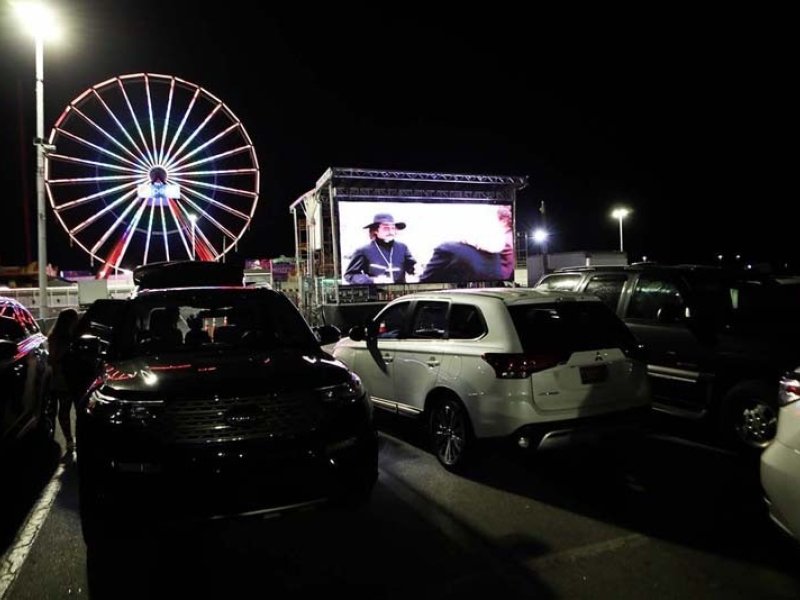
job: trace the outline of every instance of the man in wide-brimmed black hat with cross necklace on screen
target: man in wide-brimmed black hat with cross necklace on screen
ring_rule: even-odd
[[[414,274],[417,261],[402,242],[395,239],[405,223],[395,223],[388,213],[378,213],[369,230],[370,242],[358,248],[344,272],[347,283],[405,283],[406,273]]]

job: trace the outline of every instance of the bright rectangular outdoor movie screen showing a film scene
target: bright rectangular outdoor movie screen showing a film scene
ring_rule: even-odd
[[[459,283],[514,279],[510,203],[345,201],[341,283]]]

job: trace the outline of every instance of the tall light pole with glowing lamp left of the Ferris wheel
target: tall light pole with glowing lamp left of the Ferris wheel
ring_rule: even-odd
[[[42,2],[17,2],[17,16],[33,34],[36,48],[36,227],[38,232],[39,313],[47,314],[47,214],[45,212],[44,159],[53,150],[44,140],[44,40],[55,34],[53,13]]]

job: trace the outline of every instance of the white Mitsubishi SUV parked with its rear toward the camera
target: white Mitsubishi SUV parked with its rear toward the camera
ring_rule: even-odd
[[[650,394],[635,339],[595,296],[524,288],[418,292],[333,349],[372,403],[422,417],[449,470],[474,442],[540,448],[634,428]]]

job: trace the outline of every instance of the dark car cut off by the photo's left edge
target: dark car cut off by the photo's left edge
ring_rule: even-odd
[[[55,410],[47,394],[47,338],[22,304],[0,297],[0,447],[28,434],[51,440]]]

